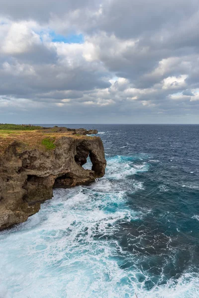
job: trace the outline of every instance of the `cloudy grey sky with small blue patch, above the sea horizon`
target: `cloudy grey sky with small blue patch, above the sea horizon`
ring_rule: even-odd
[[[0,123],[199,124],[199,0],[1,0]]]

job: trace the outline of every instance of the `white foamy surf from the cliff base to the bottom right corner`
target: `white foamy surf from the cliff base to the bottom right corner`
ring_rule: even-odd
[[[109,158],[102,179],[89,187],[56,189],[53,199],[20,228],[1,232],[0,298],[130,298],[134,293],[138,298],[198,298],[198,276],[187,273],[176,283],[147,291],[137,280],[136,263],[130,270],[119,266],[124,252],[113,236],[119,223],[141,219],[151,210],[129,209],[128,186],[108,178],[125,182],[126,175],[147,169],[144,162]],[[135,191],[143,187],[130,181]],[[134,255],[126,256],[133,261]]]

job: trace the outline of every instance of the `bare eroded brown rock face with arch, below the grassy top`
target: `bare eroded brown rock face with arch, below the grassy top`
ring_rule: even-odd
[[[18,151],[14,141],[0,157],[0,229],[25,222],[52,198],[54,187],[73,187],[94,182],[105,172],[100,138],[61,137],[56,148]],[[82,165],[88,155],[92,170]]]

